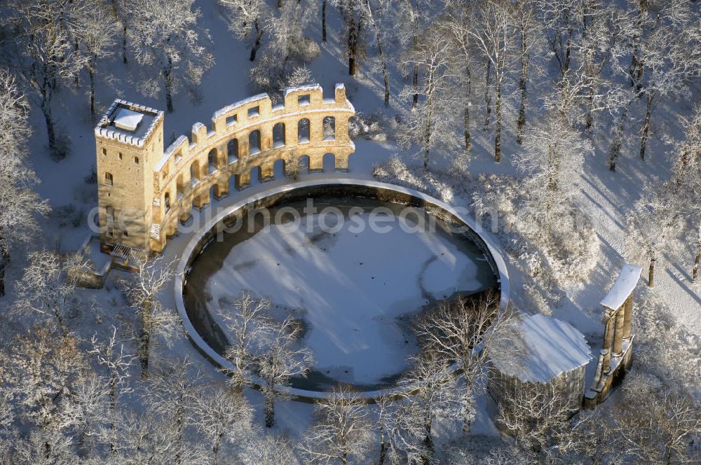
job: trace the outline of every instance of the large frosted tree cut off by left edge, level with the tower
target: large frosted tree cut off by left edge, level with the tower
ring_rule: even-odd
[[[5,272],[12,248],[31,240],[39,225],[36,214],[46,214],[48,203],[32,187],[39,182],[26,164],[25,139],[29,104],[15,78],[0,69],[0,297],[5,295]]]

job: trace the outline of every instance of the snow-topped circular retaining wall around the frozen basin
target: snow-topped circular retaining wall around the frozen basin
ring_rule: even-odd
[[[224,232],[226,225],[230,225],[236,218],[245,216],[256,209],[273,207],[283,202],[292,200],[301,200],[316,195],[336,195],[349,197],[370,197],[384,202],[394,202],[398,204],[407,204],[413,207],[421,207],[429,214],[437,216],[449,223],[467,226],[466,234],[470,240],[475,242],[482,249],[484,256],[489,260],[492,270],[497,279],[497,284],[501,293],[500,307],[502,310],[506,308],[509,302],[509,278],[506,264],[501,252],[494,244],[494,241],[489,235],[482,230],[480,225],[476,225],[475,221],[455,207],[441,202],[440,200],[430,197],[429,195],[419,193],[416,190],[394,186],[388,183],[376,181],[362,181],[358,179],[333,179],[333,180],[318,180],[304,181],[292,183],[287,186],[281,186],[267,190],[257,195],[247,197],[240,202],[227,207],[217,216],[196,231],[191,240],[186,245],[182,258],[177,264],[175,273],[175,304],[177,311],[182,319],[183,326],[189,335],[193,345],[204,354],[207,359],[210,359],[219,368],[224,370],[234,370],[233,364],[226,360],[217,351],[212,349],[205,342],[202,336],[196,331],[187,314],[183,299],[183,287],[187,278],[189,268],[195,258],[200,254],[200,251],[206,247],[217,234]],[[262,384],[262,381],[255,376],[250,377],[250,382],[254,385]],[[287,386],[278,386],[278,391],[289,394],[302,399],[318,399],[325,398],[327,393],[322,391],[311,391],[307,389],[297,389]],[[379,389],[375,391],[362,391],[358,395],[362,398],[372,401],[379,396],[399,394],[397,388]]]

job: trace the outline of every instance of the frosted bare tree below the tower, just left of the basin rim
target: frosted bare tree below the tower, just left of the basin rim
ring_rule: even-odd
[[[151,345],[158,335],[168,338],[179,328],[179,320],[172,310],[161,305],[158,293],[172,279],[172,262],[163,258],[149,258],[139,266],[134,277],[125,279],[124,292],[130,305],[134,307],[139,322],[139,360],[142,378],[149,375],[149,355]]]

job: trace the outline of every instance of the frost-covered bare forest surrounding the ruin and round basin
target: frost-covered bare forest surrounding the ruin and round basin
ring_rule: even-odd
[[[287,85],[315,81],[318,59],[353,80],[349,93],[374,83],[376,113],[353,121],[356,135],[387,132],[421,165],[393,158],[375,176],[443,200],[462,195],[493,219],[524,275],[517,292],[528,307],[518,310],[547,312],[562,298],[557,286],[581,284],[599,263],[575,188],[585,160],[604,147],[597,163],[609,183],[622,182],[631,158],[664,160],[669,179],[648,179],[622,215],[625,258],[645,265],[653,288],[639,305],[632,373],[615,401],[575,416],[545,388],[522,389],[515,410],[496,414],[509,440],[473,433],[490,351],[515,318],[494,293],[441,302],[413,322],[420,349],[392,386],[400,394],[369,405],[339,384],[290,433],[275,420],[288,397],[280,387],[314,363],[299,321],[241,293],[218,316],[231,335],[222,355],[236,368],[220,373],[184,355],[182,324],[161,299],[172,262],[151,257],[107,284],[111,301],[91,300],[69,273],[76,257],[35,240],[51,204],[36,193],[32,132],[47,163],[71,162],[57,99],[75,92],[93,124],[115,67],[177,112],[215,66],[202,3],[0,3],[0,463],[699,463],[701,336],[667,321],[653,294],[679,243],[679,267],[701,281],[699,2],[216,2],[212,16],[229,32],[217,60],[244,48],[250,88],[279,102]],[[693,111],[679,130],[656,133],[680,101]],[[654,138],[669,151],[655,152]],[[515,172],[470,177],[478,150]]]

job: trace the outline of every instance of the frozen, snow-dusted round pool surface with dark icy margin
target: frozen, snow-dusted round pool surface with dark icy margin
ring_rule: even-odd
[[[498,286],[479,237],[421,205],[306,194],[268,202],[267,219],[259,212],[225,221],[228,231],[189,261],[187,316],[217,353],[227,339],[217,314],[234,311],[229,304],[248,290],[272,301],[274,318],[292,313],[304,327],[300,344],[315,364],[292,387],[383,389],[416,352],[410,324],[423,307]]]

